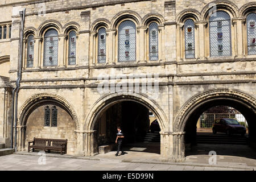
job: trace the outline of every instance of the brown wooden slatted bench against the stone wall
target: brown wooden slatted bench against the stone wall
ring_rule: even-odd
[[[32,145],[31,145],[32,143]],[[43,150],[43,151],[60,151],[62,155],[67,154],[67,139],[46,139],[46,138],[34,138],[32,142],[28,142],[28,152],[30,152],[31,148],[34,152],[35,150]]]

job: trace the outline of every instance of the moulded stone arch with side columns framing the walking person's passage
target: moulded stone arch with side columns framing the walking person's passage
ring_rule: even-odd
[[[105,111],[110,106],[117,104],[118,102],[123,101],[133,101],[141,104],[148,109],[150,109],[156,116],[159,121],[161,132],[164,133],[167,125],[166,115],[163,114],[163,110],[160,108],[158,104],[154,101],[148,99],[146,96],[142,94],[110,94],[108,96],[100,98],[90,109],[88,117],[86,117],[86,123],[84,126],[85,130],[85,155],[92,156],[97,154],[97,142],[96,142],[96,130],[94,130],[94,125],[97,122],[97,119],[100,117],[102,111]],[[163,137],[161,136],[161,148],[164,144]],[[167,148],[167,147],[166,147]],[[161,154],[163,151],[161,151]]]

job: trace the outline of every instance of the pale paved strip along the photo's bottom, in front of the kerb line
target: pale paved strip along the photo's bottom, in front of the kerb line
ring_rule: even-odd
[[[0,170],[3,171],[233,171],[233,170],[253,170],[253,168],[232,168],[218,166],[196,166],[186,164],[156,164],[156,163],[130,163],[119,160],[85,160],[60,157],[46,157],[46,165],[38,163],[40,156],[37,155],[6,155],[0,157]],[[256,168],[255,168],[256,169]]]

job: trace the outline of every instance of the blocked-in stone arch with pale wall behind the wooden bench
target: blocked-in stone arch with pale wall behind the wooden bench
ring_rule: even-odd
[[[49,107],[51,125],[45,125],[46,106]],[[52,108],[57,109],[57,126],[52,125]],[[29,98],[18,114],[18,151],[27,148],[28,140],[37,138],[68,139],[67,154],[76,154],[79,128],[73,106],[64,98],[53,93],[36,94]]]

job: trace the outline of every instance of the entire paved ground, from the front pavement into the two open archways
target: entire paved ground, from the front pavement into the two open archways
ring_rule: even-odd
[[[157,154],[157,144],[151,149],[144,146],[127,146],[125,155],[114,156],[115,151],[93,157],[46,154],[46,165],[39,165],[38,152],[16,152],[0,157],[1,170],[256,170],[255,151],[247,146],[199,144],[184,162],[164,161]],[[208,152],[217,152],[217,164],[209,164]],[[146,151],[146,152],[145,152]],[[240,156],[237,156],[240,154]],[[242,154],[242,155],[241,155]],[[117,167],[118,166],[118,167]]]

